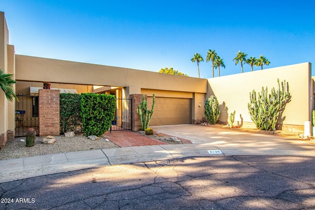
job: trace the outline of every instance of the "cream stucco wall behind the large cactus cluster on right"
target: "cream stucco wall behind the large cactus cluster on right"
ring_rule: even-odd
[[[221,104],[221,110],[225,107],[225,113],[230,114],[235,110],[236,121],[240,121],[242,115],[244,122],[252,122],[248,112],[250,92],[253,89],[260,92],[262,86],[267,86],[269,92],[272,87],[277,90],[277,78],[280,82],[288,82],[291,94],[291,101],[283,113],[284,124],[304,125],[304,121],[312,119],[310,97],[313,97],[313,90],[311,63],[308,62],[208,79],[206,99],[214,94]],[[227,116],[222,114],[219,120],[227,120]]]

